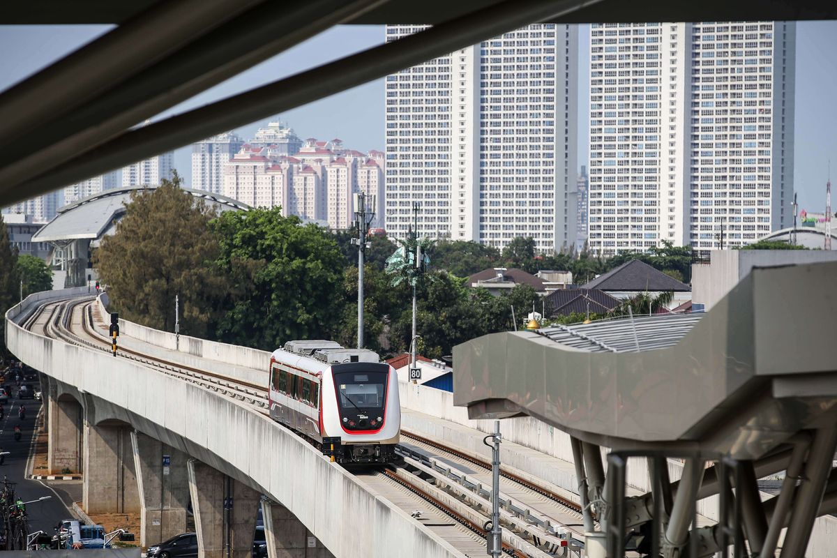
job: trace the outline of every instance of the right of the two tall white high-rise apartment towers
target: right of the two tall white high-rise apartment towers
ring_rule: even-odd
[[[590,31],[588,245],[752,243],[790,223],[795,24]]]

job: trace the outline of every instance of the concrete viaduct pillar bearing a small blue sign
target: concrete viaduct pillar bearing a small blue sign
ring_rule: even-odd
[[[188,457],[136,430],[131,432],[131,448],[140,494],[140,541],[147,547],[187,530]]]

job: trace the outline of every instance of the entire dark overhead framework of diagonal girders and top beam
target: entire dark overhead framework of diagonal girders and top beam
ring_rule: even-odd
[[[4,7],[0,23],[119,25],[0,93],[0,205],[290,110],[529,23],[730,21],[755,13],[772,20],[827,19],[837,17],[837,7],[816,0],[16,3]],[[338,23],[434,27],[132,129]],[[147,40],[150,36],[154,40]]]

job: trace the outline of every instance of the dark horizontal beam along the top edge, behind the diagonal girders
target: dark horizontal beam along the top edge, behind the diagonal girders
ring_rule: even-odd
[[[146,9],[155,0],[30,0],[9,3],[0,12],[2,24],[33,23],[123,23]],[[424,2],[393,2],[372,10],[355,23],[438,24],[450,18],[486,8],[498,0],[424,0]],[[650,22],[650,21],[747,21],[756,17],[765,20],[837,19],[834,3],[819,0],[646,0],[629,3],[608,0],[600,6],[584,9],[562,18],[568,23]]]

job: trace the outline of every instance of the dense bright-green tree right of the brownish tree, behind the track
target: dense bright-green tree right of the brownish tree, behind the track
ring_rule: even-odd
[[[334,335],[346,304],[346,260],[331,233],[282,217],[280,207],[225,212],[212,228],[218,269],[234,285],[218,324],[221,340],[268,351]]]

